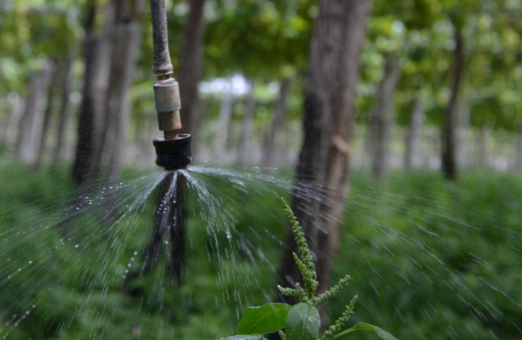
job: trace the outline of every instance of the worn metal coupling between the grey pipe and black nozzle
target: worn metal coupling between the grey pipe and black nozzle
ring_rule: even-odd
[[[159,129],[162,131],[181,129],[181,99],[177,81],[173,78],[157,80],[152,86]]]

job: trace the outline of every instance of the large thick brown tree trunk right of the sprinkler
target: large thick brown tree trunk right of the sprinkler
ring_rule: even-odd
[[[305,88],[304,141],[297,165],[292,209],[316,257],[319,292],[328,287],[349,188],[349,151],[354,124],[359,59],[370,0],[319,1]],[[323,188],[323,189],[321,189]],[[301,280],[291,256],[291,233],[279,270],[279,284]],[[294,299],[279,296],[280,301]]]

